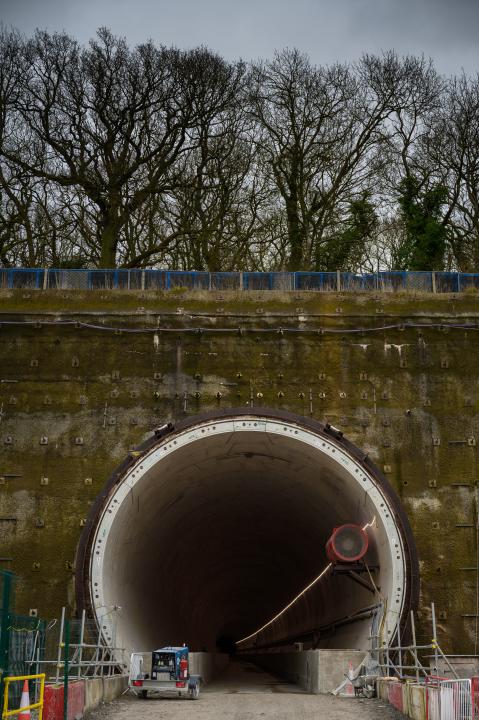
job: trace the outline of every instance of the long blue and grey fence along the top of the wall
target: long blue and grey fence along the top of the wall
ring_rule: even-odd
[[[0,288],[59,290],[273,290],[457,293],[479,290],[479,273],[201,272],[0,268]]]

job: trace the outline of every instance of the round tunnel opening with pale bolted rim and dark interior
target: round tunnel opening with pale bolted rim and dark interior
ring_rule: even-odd
[[[367,528],[366,579],[328,565],[334,527]],[[414,539],[367,455],[331,426],[264,408],[155,431],[97,498],[77,555],[77,604],[131,650],[219,640],[366,648],[417,604]],[[368,587],[369,585],[369,587]]]

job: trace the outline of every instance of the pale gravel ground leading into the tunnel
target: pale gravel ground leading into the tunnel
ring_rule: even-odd
[[[89,720],[402,720],[404,715],[382,700],[308,695],[295,685],[232,663],[198,700],[123,695],[102,705]]]

